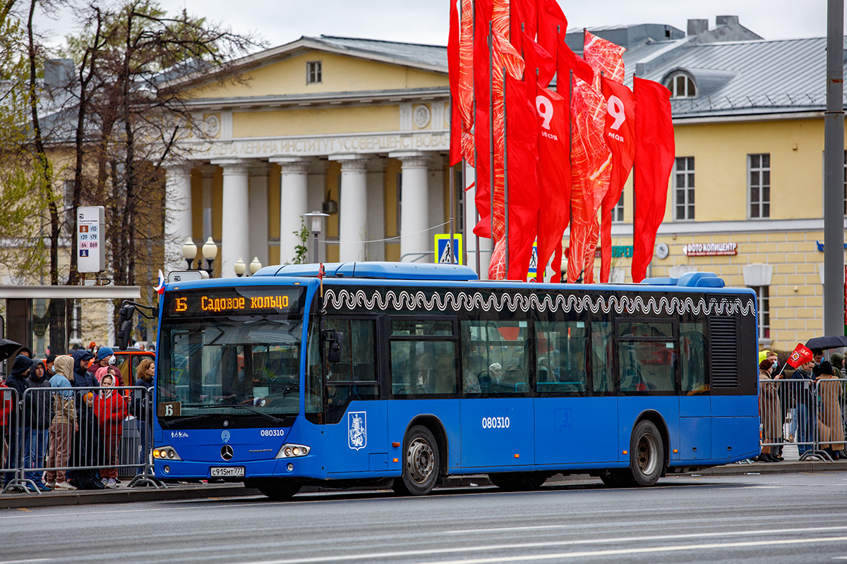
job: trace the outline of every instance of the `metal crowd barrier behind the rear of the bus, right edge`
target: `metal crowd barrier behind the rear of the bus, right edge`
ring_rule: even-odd
[[[796,445],[800,460],[847,457],[847,378],[759,381],[760,441],[772,455]]]

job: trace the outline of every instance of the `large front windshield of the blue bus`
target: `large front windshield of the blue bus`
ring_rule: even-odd
[[[268,310],[212,313],[163,316],[159,420],[170,426],[222,415],[257,425],[293,419],[299,411],[302,309],[285,315]]]

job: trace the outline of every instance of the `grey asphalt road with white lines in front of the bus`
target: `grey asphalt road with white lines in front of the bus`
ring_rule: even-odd
[[[821,472],[6,509],[0,564],[839,562],[845,488]]]

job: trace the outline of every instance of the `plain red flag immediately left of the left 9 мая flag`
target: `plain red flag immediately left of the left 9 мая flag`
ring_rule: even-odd
[[[530,83],[531,84],[531,83]],[[509,280],[526,280],[538,229],[538,122],[527,90],[534,88],[507,74],[506,143],[509,202]]]

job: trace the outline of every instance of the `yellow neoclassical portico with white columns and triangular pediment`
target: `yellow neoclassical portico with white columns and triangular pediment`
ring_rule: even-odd
[[[172,86],[205,127],[168,169],[174,241],[212,237],[235,276],[239,259],[291,262],[301,216],[324,211],[321,260],[432,260],[450,231],[445,47],[303,37],[236,68]]]

